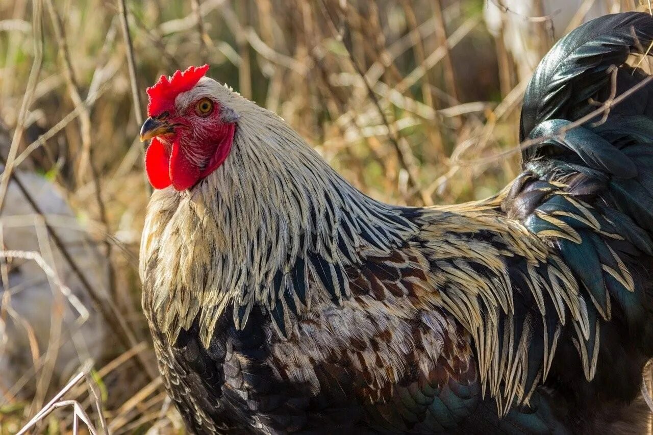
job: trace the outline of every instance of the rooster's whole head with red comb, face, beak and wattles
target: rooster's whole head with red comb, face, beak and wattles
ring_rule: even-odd
[[[140,140],[151,139],[145,167],[151,185],[186,190],[227,159],[237,116],[219,101],[217,82],[204,77],[208,65],[161,76],[147,89],[148,119]]]

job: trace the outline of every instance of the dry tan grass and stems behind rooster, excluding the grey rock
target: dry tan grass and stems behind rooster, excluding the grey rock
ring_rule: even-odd
[[[532,22],[543,48],[546,22]],[[86,415],[100,433],[183,432],[155,376],[136,273],[150,193],[137,133],[144,89],[160,74],[210,63],[211,76],[280,114],[362,191],[437,204],[481,199],[517,174],[518,60],[486,31],[482,0],[0,3],[0,120],[14,131],[3,155],[61,186],[110,257],[110,297],[92,298],[91,315],[117,338],[65,389],[74,411],[55,401],[37,415],[44,391],[1,392],[0,434],[35,415],[52,434]],[[48,367],[36,361],[25,383],[48,379]]]

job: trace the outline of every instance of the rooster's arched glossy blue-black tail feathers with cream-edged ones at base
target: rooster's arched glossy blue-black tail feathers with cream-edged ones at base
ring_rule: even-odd
[[[648,268],[653,253],[653,82],[607,116],[569,127],[596,110],[590,99],[606,101],[648,80],[624,63],[630,54],[646,52],[652,40],[653,17],[646,13],[608,15],[582,25],[542,59],[526,90],[521,120],[523,138],[548,137],[524,150],[525,169],[541,181],[566,185],[551,186],[552,194],[537,207],[540,219],[531,217],[526,226],[538,233],[535,224],[545,214],[562,221],[564,231],[579,234],[581,240],[558,238],[556,244],[588,291],[588,302],[605,320],[611,305],[620,307],[643,341],[653,340],[645,332],[653,313],[648,283],[653,272]],[[611,68],[617,69],[609,73]],[[561,129],[567,131],[560,135]],[[598,274],[588,274],[588,262],[596,268],[596,261]]]

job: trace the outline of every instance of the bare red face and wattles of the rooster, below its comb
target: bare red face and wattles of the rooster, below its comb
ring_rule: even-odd
[[[200,115],[197,102],[183,112],[168,113],[165,121],[174,133],[152,138],[145,155],[151,185],[186,190],[217,169],[229,155],[236,125],[224,123],[220,106],[214,101],[208,115]]]

